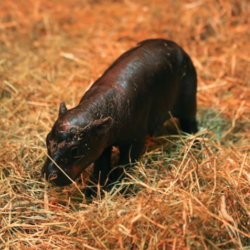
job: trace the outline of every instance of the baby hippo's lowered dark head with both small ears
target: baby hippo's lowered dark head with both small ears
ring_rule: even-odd
[[[93,119],[80,107],[67,110],[62,102],[46,138],[48,157],[42,175],[57,186],[71,184],[70,179],[75,180],[101,155],[111,125],[111,117]]]

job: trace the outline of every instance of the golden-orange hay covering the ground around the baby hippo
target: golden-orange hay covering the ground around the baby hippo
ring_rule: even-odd
[[[59,103],[74,107],[115,58],[158,37],[197,68],[201,149],[194,136],[155,139],[127,197],[86,202],[45,183]],[[247,249],[249,40],[248,0],[1,1],[0,249]]]

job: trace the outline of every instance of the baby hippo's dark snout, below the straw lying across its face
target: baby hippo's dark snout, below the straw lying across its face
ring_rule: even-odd
[[[42,177],[56,186],[66,186],[72,182],[69,178],[49,159],[47,158],[41,170]]]

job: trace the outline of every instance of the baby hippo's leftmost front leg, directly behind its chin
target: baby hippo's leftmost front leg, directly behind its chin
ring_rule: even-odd
[[[94,163],[94,171],[89,180],[89,187],[85,189],[87,197],[97,195],[97,184],[104,186],[111,171],[111,151],[112,147],[106,148],[101,156]]]

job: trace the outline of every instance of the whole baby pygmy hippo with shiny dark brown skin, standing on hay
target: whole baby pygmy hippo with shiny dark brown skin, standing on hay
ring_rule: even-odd
[[[169,112],[179,118],[182,131],[197,132],[196,89],[195,68],[181,47],[164,39],[139,43],[104,72],[78,106],[67,110],[61,103],[46,139],[50,158],[43,176],[58,186],[68,185],[70,179],[56,164],[75,180],[94,163],[90,183],[117,181],[123,169],[109,175],[112,146],[120,150],[118,165],[135,162],[147,134],[169,119]]]

